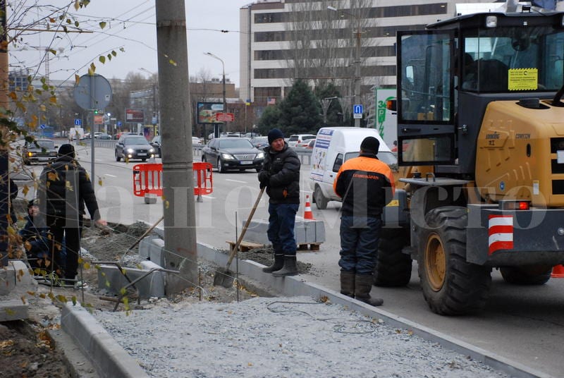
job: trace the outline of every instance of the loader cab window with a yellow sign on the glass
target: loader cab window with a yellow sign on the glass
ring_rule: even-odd
[[[544,25],[465,30],[464,33],[462,90],[556,91],[562,86],[562,30]]]

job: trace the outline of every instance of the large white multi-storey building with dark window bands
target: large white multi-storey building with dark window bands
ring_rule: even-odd
[[[498,1],[499,2],[499,1]],[[501,1],[504,2],[504,1]],[[396,85],[396,31],[424,28],[479,0],[262,0],[240,8],[240,98],[272,104],[293,80],[343,97]],[[501,4],[498,4],[501,5]]]

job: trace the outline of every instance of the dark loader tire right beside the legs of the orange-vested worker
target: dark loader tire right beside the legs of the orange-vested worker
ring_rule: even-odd
[[[382,228],[374,267],[375,286],[405,286],[411,279],[411,257],[402,253],[409,243],[408,228]]]

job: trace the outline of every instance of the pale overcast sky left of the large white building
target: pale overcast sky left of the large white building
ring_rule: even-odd
[[[157,0],[159,1],[159,0]],[[165,0],[160,0],[165,1]],[[239,85],[239,9],[252,0],[186,0],[186,22],[188,30],[188,70],[197,75],[203,68],[213,77],[221,78],[221,62],[204,52],[211,52],[225,63],[226,78]],[[10,1],[10,3],[13,3]],[[18,1],[15,1],[18,3]],[[57,4],[50,0],[20,1],[20,4]],[[155,0],[92,0],[76,13],[80,26],[92,30],[91,34],[55,34],[40,32],[27,35],[24,43],[10,49],[11,70],[30,68],[37,70],[41,51],[51,46],[57,50],[50,55],[49,77],[51,79],[74,80],[87,73],[92,61],[96,73],[104,77],[125,78],[134,71],[149,75],[157,72],[157,32],[155,28]],[[59,5],[59,4],[57,4]],[[44,11],[31,12],[30,16],[44,15]],[[9,18],[8,14],[8,18]],[[104,20],[106,27],[101,30],[98,23]],[[8,24],[9,25],[9,24]],[[227,33],[220,30],[229,30]],[[119,51],[123,47],[125,52]],[[102,64],[99,55],[115,50],[118,55]],[[144,68],[145,70],[141,70]],[[39,75],[45,75],[44,63]]]

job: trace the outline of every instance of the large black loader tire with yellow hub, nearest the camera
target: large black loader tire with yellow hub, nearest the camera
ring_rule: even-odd
[[[465,207],[438,207],[425,215],[419,231],[419,280],[439,315],[464,315],[486,305],[491,269],[466,262],[466,226]]]

